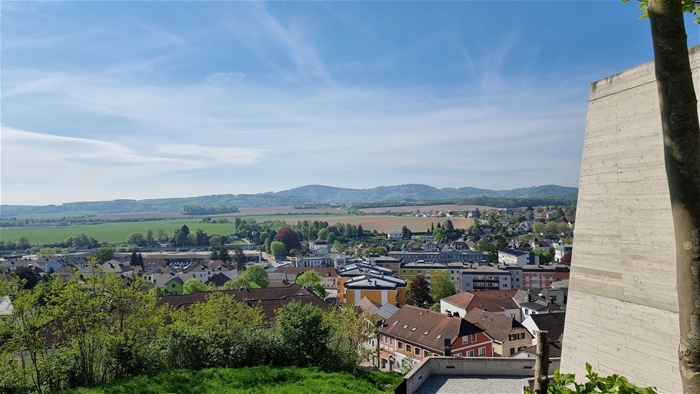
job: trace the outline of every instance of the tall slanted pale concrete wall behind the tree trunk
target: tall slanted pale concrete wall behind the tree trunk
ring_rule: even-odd
[[[690,50],[698,75],[700,47]],[[698,78],[695,89],[698,91]],[[562,370],[681,392],[671,204],[654,64],[591,84]]]

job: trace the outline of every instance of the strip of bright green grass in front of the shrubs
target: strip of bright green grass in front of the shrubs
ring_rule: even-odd
[[[137,376],[112,384],[63,391],[63,394],[355,394],[393,393],[403,376],[397,373],[357,370],[323,371],[320,368],[174,370],[154,376]]]

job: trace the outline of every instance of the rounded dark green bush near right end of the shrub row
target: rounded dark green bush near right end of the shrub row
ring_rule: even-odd
[[[293,365],[315,365],[327,354],[330,328],[315,305],[290,302],[277,312],[277,336]]]

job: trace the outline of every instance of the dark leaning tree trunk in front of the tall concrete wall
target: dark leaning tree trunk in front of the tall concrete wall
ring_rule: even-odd
[[[700,392],[700,125],[682,0],[650,0],[666,175],[676,239],[679,368],[686,393]]]

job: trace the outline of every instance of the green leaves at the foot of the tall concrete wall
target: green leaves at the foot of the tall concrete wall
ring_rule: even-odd
[[[551,394],[588,394],[588,393],[619,393],[619,394],[656,394],[653,387],[637,387],[627,378],[617,374],[602,377],[593,372],[591,364],[586,363],[586,383],[576,383],[575,374],[559,373],[554,371],[554,383],[547,387],[547,393]],[[525,390],[528,394],[534,394],[531,389]]]

